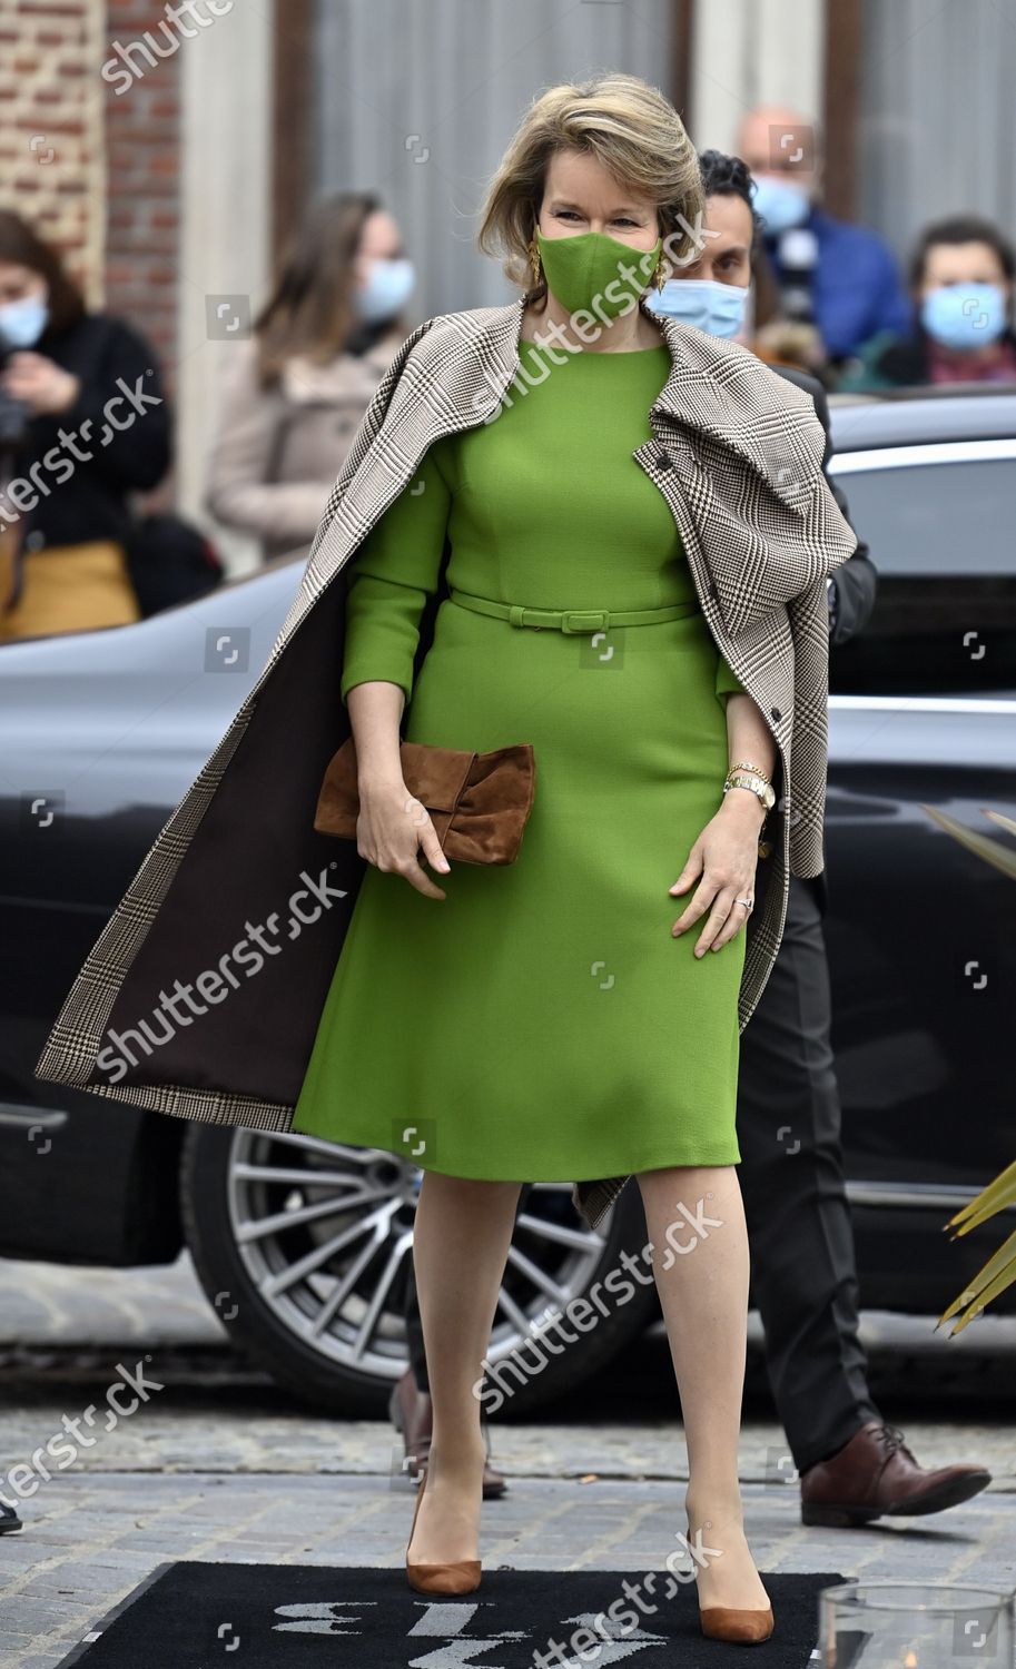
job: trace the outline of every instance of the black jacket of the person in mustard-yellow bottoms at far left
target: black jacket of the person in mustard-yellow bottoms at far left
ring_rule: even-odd
[[[32,507],[25,494],[13,501],[22,512],[23,547],[123,542],[132,519],[128,494],[155,487],[170,464],[168,407],[155,352],[133,325],[107,314],[45,330],[32,352],[80,377],[82,391],[68,411],[28,419],[23,442],[0,464],[5,482],[13,476],[35,489]]]

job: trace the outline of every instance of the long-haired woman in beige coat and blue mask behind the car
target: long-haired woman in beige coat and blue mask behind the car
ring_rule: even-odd
[[[205,509],[264,561],[310,546],[349,444],[407,335],[415,280],[370,192],[317,204],[249,337],[235,344]]]

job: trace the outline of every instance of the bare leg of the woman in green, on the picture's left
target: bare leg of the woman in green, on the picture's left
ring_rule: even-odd
[[[485,1445],[472,1387],[490,1345],[521,1187],[424,1173],[414,1265],[434,1435],[407,1556],[414,1564],[477,1557]]]

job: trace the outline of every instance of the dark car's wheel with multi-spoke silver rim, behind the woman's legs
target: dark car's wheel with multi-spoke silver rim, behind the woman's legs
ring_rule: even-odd
[[[409,1168],[394,1155],[335,1148],[312,1137],[194,1125],[187,1132],[180,1160],[184,1233],[215,1314],[232,1339],[265,1367],[272,1379],[302,1402],[327,1409],[329,1414],[379,1419],[387,1414],[392,1385],[407,1365],[404,1300],[394,1302],[390,1312],[380,1317],[385,1330],[379,1349],[364,1352],[357,1360],[354,1352],[344,1347],[340,1329],[335,1335],[332,1332],[324,1335],[324,1330],[319,1330],[317,1339],[314,1337],[314,1327],[322,1314],[320,1308],[314,1312],[314,1303],[322,1302],[320,1295],[309,1298],[292,1280],[294,1267],[302,1267],[309,1257],[315,1257],[314,1243],[304,1238],[307,1225],[300,1222],[294,1235],[284,1227],[277,1240],[262,1233],[265,1222],[272,1225],[280,1220],[279,1190],[284,1192],[287,1187],[289,1197],[295,1197],[299,1217],[319,1212],[309,1227],[322,1233],[319,1225],[329,1223],[330,1217],[322,1217],[322,1207],[312,1203],[315,1192],[327,1197],[327,1190],[315,1182],[319,1172],[314,1165],[335,1165],[337,1153],[344,1153],[347,1163],[350,1155],[364,1165],[370,1163],[372,1175],[390,1172],[392,1187],[399,1178],[399,1167],[402,1172]],[[309,1162],[312,1162],[309,1182],[300,1185],[299,1167]],[[264,1173],[274,1178],[275,1172],[284,1180],[277,1185],[277,1192],[272,1192],[274,1180],[262,1187],[260,1177]],[[255,1205],[250,1205],[250,1198]],[[415,1205],[412,1198],[404,1205],[395,1193],[392,1198],[397,1208],[390,1212],[390,1243],[399,1245],[400,1255],[405,1257]],[[342,1222],[339,1207],[335,1212]],[[282,1220],[285,1223],[285,1218]],[[537,1223],[537,1230],[526,1227],[527,1223]],[[534,1187],[516,1223],[502,1285],[504,1308],[499,1307],[500,1322],[495,1324],[489,1352],[489,1372],[497,1369],[495,1382],[507,1389],[504,1395],[495,1394],[494,1380],[489,1379],[482,1399],[485,1412],[529,1414],[576,1390],[659,1315],[656,1287],[652,1280],[646,1280],[651,1270],[642,1257],[644,1243],[646,1218],[634,1182],[622,1190],[596,1235],[591,1235],[574,1212],[571,1185]],[[639,1280],[629,1277],[624,1282],[622,1252],[629,1253],[632,1262],[637,1258]],[[612,1270],[617,1270],[617,1277],[611,1277]],[[611,1298],[607,1303],[601,1293],[599,1303],[591,1302],[587,1293],[607,1277],[611,1277],[606,1288],[609,1293],[619,1293],[619,1288],[627,1285],[632,1288],[631,1297]],[[569,1288],[569,1282],[574,1290]],[[514,1283],[511,1290],[509,1283]],[[567,1295],[564,1307],[561,1300],[547,1305],[546,1293],[541,1298],[541,1283],[557,1287],[561,1297]],[[532,1300],[526,1302],[529,1287]],[[287,1297],[285,1303],[279,1302],[280,1292]],[[589,1322],[587,1312],[597,1317],[587,1330],[579,1330],[571,1320],[577,1315],[572,1307],[579,1298],[586,1298],[582,1324]],[[359,1302],[360,1310],[354,1320],[370,1308],[369,1285]],[[532,1347],[534,1325],[537,1320],[546,1322],[547,1312],[561,1314],[561,1320],[554,1324],[561,1332],[554,1337],[556,1342],[561,1339],[566,1342],[557,1342],[556,1350],[544,1350],[542,1365],[534,1367],[541,1360],[541,1352]],[[522,1317],[527,1322],[527,1335],[521,1325]],[[519,1347],[526,1339],[529,1345],[521,1352]]]

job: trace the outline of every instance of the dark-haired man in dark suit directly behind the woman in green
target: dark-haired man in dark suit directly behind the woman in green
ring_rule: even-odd
[[[749,300],[759,220],[744,162],[721,152],[701,159],[707,209],[702,252],[671,279],[661,310],[716,335],[751,340]],[[806,389],[832,442],[822,384],[804,371],[774,366]],[[841,487],[829,481],[848,516]],[[829,644],[863,631],[878,577],[866,544],[827,581]],[[991,1482],[976,1465],[926,1470],[888,1425],[868,1389],[858,1337],[858,1272],[846,1198],[841,1107],[831,1046],[829,968],[822,915],[826,875],[791,876],[779,955],[741,1038],[737,1140],[741,1192],[752,1250],[752,1297],[766,1334],[769,1384],[801,1479],[804,1524],[853,1525],[881,1515],[939,1512]],[[522,1188],[524,1208],[529,1185]],[[430,1399],[424,1339],[410,1283],[410,1367],[392,1392],[410,1470],[425,1465]],[[504,1492],[487,1465],[484,1495]]]

